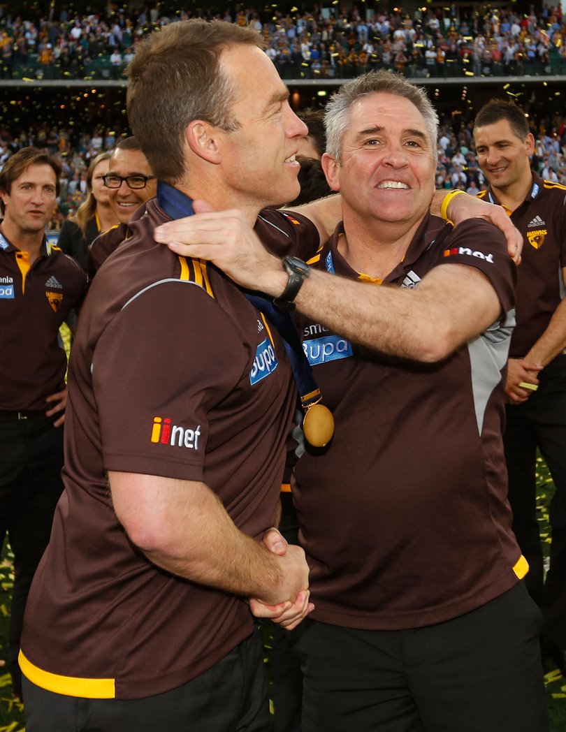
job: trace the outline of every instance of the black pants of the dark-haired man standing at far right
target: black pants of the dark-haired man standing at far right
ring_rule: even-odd
[[[523,404],[507,405],[504,432],[513,531],[529,562],[525,581],[535,602],[551,608],[566,591],[566,355],[540,374],[540,386]],[[550,569],[543,580],[543,550],[536,510],[537,447],[551,472],[556,492],[549,519]],[[560,622],[566,625],[566,616]]]

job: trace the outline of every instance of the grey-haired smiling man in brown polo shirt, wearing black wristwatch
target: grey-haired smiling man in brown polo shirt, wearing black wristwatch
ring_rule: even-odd
[[[292,486],[315,605],[295,632],[302,731],[543,732],[541,619],[520,581],[501,434],[515,266],[488,223],[431,215],[424,91],[366,75],[326,122],[343,222],[315,255],[288,247],[310,267],[282,267],[233,212],[157,232],[297,305],[334,414]]]

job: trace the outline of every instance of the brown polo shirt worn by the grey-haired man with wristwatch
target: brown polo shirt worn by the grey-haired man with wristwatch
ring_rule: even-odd
[[[341,232],[310,263],[354,279],[338,252]],[[524,573],[501,437],[515,281],[502,234],[483,220],[453,229],[428,217],[381,286],[417,288],[450,264],[480,269],[502,315],[442,362],[381,356],[297,318],[335,418],[328,447],[306,447],[294,472],[314,619],[368,630],[434,624],[494,599]]]

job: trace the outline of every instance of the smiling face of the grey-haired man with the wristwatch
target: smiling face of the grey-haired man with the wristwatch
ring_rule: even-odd
[[[434,149],[422,114],[396,94],[375,92],[350,108],[340,163],[325,154],[324,171],[340,191],[344,221],[413,225],[434,192]]]

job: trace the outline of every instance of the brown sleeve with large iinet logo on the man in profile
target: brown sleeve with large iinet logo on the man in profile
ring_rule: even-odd
[[[92,358],[105,470],[202,481],[209,411],[252,361],[198,285],[165,280],[136,295]]]

